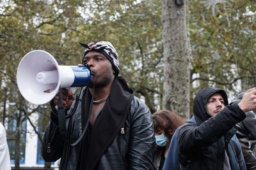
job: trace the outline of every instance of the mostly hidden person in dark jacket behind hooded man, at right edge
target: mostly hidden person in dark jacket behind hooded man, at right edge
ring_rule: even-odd
[[[243,93],[239,94],[232,103],[239,103]],[[239,139],[247,169],[256,169],[256,157],[250,148],[249,141],[256,141],[256,115],[253,111],[245,113],[246,118],[236,124],[236,136]]]

